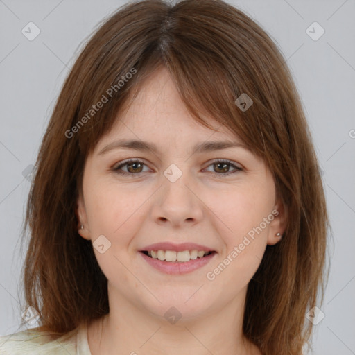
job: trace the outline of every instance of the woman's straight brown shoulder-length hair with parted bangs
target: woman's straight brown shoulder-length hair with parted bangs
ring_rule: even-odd
[[[243,334],[264,355],[302,354],[312,331],[305,314],[319,295],[323,302],[329,221],[285,62],[255,21],[220,0],[131,1],[103,21],[64,82],[28,195],[21,277],[42,331],[67,333],[109,312],[107,279],[91,241],[78,234],[76,199],[88,155],[144,80],[165,67],[193,119],[211,128],[203,113],[227,127],[272,172],[286,230],[248,284]],[[234,103],[243,93],[253,101],[245,111]]]

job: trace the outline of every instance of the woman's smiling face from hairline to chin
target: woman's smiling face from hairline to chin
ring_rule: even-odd
[[[158,316],[171,306],[186,318],[218,311],[245,297],[266,245],[279,241],[272,174],[238,137],[205,119],[218,130],[191,118],[160,69],[87,158],[79,233],[92,240],[110,302]],[[152,146],[120,148],[122,140]],[[211,141],[237,145],[194,149]]]

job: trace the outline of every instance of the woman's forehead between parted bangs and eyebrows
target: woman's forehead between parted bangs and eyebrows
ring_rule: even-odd
[[[173,144],[183,137],[194,141],[210,137],[213,140],[240,141],[234,132],[208,116],[208,112],[201,116],[213,129],[193,119],[170,74],[161,68],[141,83],[135,97],[117,113],[112,129],[102,137],[97,149],[117,137],[153,139],[156,145],[169,139]]]

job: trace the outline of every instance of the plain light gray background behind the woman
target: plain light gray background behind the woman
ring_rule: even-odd
[[[125,2],[0,0],[1,335],[17,331],[23,311],[17,300],[24,260],[19,232],[31,178],[24,175],[79,44]],[[322,166],[334,248],[314,354],[355,354],[355,1],[228,2],[256,20],[282,50]],[[33,41],[21,33],[30,21],[41,31]],[[316,41],[306,33],[314,21],[325,30]]]

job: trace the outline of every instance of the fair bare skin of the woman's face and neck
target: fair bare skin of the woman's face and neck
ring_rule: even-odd
[[[159,150],[117,148],[98,155],[122,138],[150,141]],[[89,324],[93,355],[261,354],[243,338],[245,295],[266,245],[277,243],[277,232],[284,232],[284,210],[275,199],[272,174],[250,150],[190,153],[200,142],[226,139],[240,141],[223,126],[214,132],[194,121],[166,69],[159,69],[87,158],[77,201],[79,225],[84,225],[79,233],[93,243],[104,235],[111,243],[103,254],[94,248],[108,279],[110,313]],[[113,170],[132,158],[144,165],[122,166],[130,176]],[[229,159],[243,170],[223,169],[214,159]],[[171,164],[182,171],[175,182],[164,176]],[[207,279],[207,272],[274,209],[279,215],[213,281]],[[139,254],[162,241],[191,241],[217,254],[198,270],[166,275]],[[164,318],[172,306],[182,314],[175,324]]]

